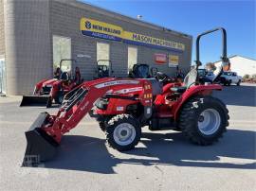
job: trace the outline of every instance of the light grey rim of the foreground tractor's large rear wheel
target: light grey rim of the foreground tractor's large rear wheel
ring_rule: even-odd
[[[221,124],[220,113],[214,109],[207,109],[199,115],[198,129],[205,135],[215,133]]]

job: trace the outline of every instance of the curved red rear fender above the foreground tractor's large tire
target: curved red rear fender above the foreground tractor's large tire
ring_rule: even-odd
[[[192,96],[197,95],[211,95],[212,90],[221,91],[223,88],[219,84],[209,84],[209,85],[195,85],[189,88],[174,104],[173,106],[173,114],[174,120],[178,119],[178,115],[182,106],[191,99]]]

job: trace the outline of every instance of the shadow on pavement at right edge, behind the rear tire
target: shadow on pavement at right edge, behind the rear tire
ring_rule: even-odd
[[[223,91],[214,91],[227,105],[256,106],[256,86],[224,86]]]

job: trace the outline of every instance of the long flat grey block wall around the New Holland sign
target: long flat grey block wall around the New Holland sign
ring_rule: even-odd
[[[159,39],[170,40],[185,44],[183,53],[175,53],[166,50],[153,49],[145,46],[137,46],[137,62],[155,65],[155,53],[172,53],[179,56],[179,67],[184,71],[188,71],[191,63],[191,45],[192,38],[179,37],[169,31],[163,31],[162,27],[149,26],[141,24],[141,22],[119,16],[119,14],[110,14],[104,10],[99,11],[90,8],[90,6],[78,3],[62,1],[52,1],[50,4],[50,32],[52,35],[60,35],[71,38],[72,56],[77,54],[90,55],[90,59],[78,59],[78,66],[81,68],[82,77],[85,79],[93,78],[96,68],[96,43],[110,44],[110,60],[113,63],[113,69],[116,77],[127,77],[127,60],[128,45],[127,43],[119,43],[97,39],[93,37],[83,36],[80,31],[80,20],[82,17],[95,19],[101,22],[121,26],[124,30],[137,32]],[[169,68],[168,64],[155,65],[160,71],[165,71],[169,75],[174,75],[175,69]]]

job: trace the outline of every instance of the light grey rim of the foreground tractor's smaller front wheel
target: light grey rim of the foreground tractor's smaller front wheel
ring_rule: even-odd
[[[136,138],[136,129],[129,123],[121,123],[114,130],[114,140],[119,146],[127,146]]]

